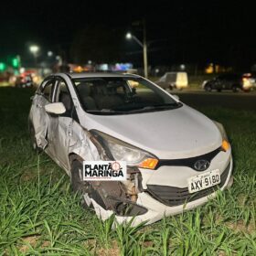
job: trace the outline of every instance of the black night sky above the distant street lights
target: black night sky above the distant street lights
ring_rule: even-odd
[[[139,63],[141,48],[124,35],[130,30],[142,39],[140,27],[133,22],[145,18],[153,66],[216,62],[249,69],[256,63],[255,13],[245,1],[6,1],[0,8],[0,59],[20,54],[29,62],[28,46],[36,43],[41,58],[52,50],[71,62],[93,60],[83,51],[112,44],[102,61]],[[94,41],[82,41],[87,47],[78,51],[77,42],[86,31]],[[101,34],[115,38],[107,41]]]

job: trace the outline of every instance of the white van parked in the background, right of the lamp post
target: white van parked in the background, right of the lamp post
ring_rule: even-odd
[[[188,86],[187,72],[167,72],[155,83],[165,90],[183,90]]]

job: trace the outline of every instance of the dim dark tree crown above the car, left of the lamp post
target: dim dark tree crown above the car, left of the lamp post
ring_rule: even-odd
[[[70,57],[76,63],[88,60],[104,63],[120,59],[122,35],[105,26],[87,26],[80,29],[70,48]]]

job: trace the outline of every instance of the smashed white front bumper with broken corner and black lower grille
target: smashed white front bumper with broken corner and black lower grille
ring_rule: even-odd
[[[91,133],[91,143],[95,154],[101,160],[112,160]],[[217,155],[216,155],[217,154]],[[112,215],[118,223],[133,221],[154,223],[164,217],[205,204],[210,197],[216,197],[218,190],[231,185],[233,161],[231,151],[219,151],[212,155],[210,170],[219,169],[221,183],[196,193],[189,194],[187,178],[197,175],[191,166],[161,165],[156,170],[136,166],[127,168],[126,181],[91,181],[90,191],[86,191],[87,205],[94,208],[97,216],[109,219]],[[88,159],[86,156],[81,157]]]

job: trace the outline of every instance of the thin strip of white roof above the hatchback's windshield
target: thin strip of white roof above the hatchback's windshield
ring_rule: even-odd
[[[58,76],[61,73],[55,74]],[[62,73],[63,74],[63,73]],[[84,79],[84,78],[140,78],[138,75],[128,74],[128,73],[114,73],[114,72],[81,72],[81,73],[75,73],[75,72],[69,72],[65,73],[69,76],[70,79]]]

